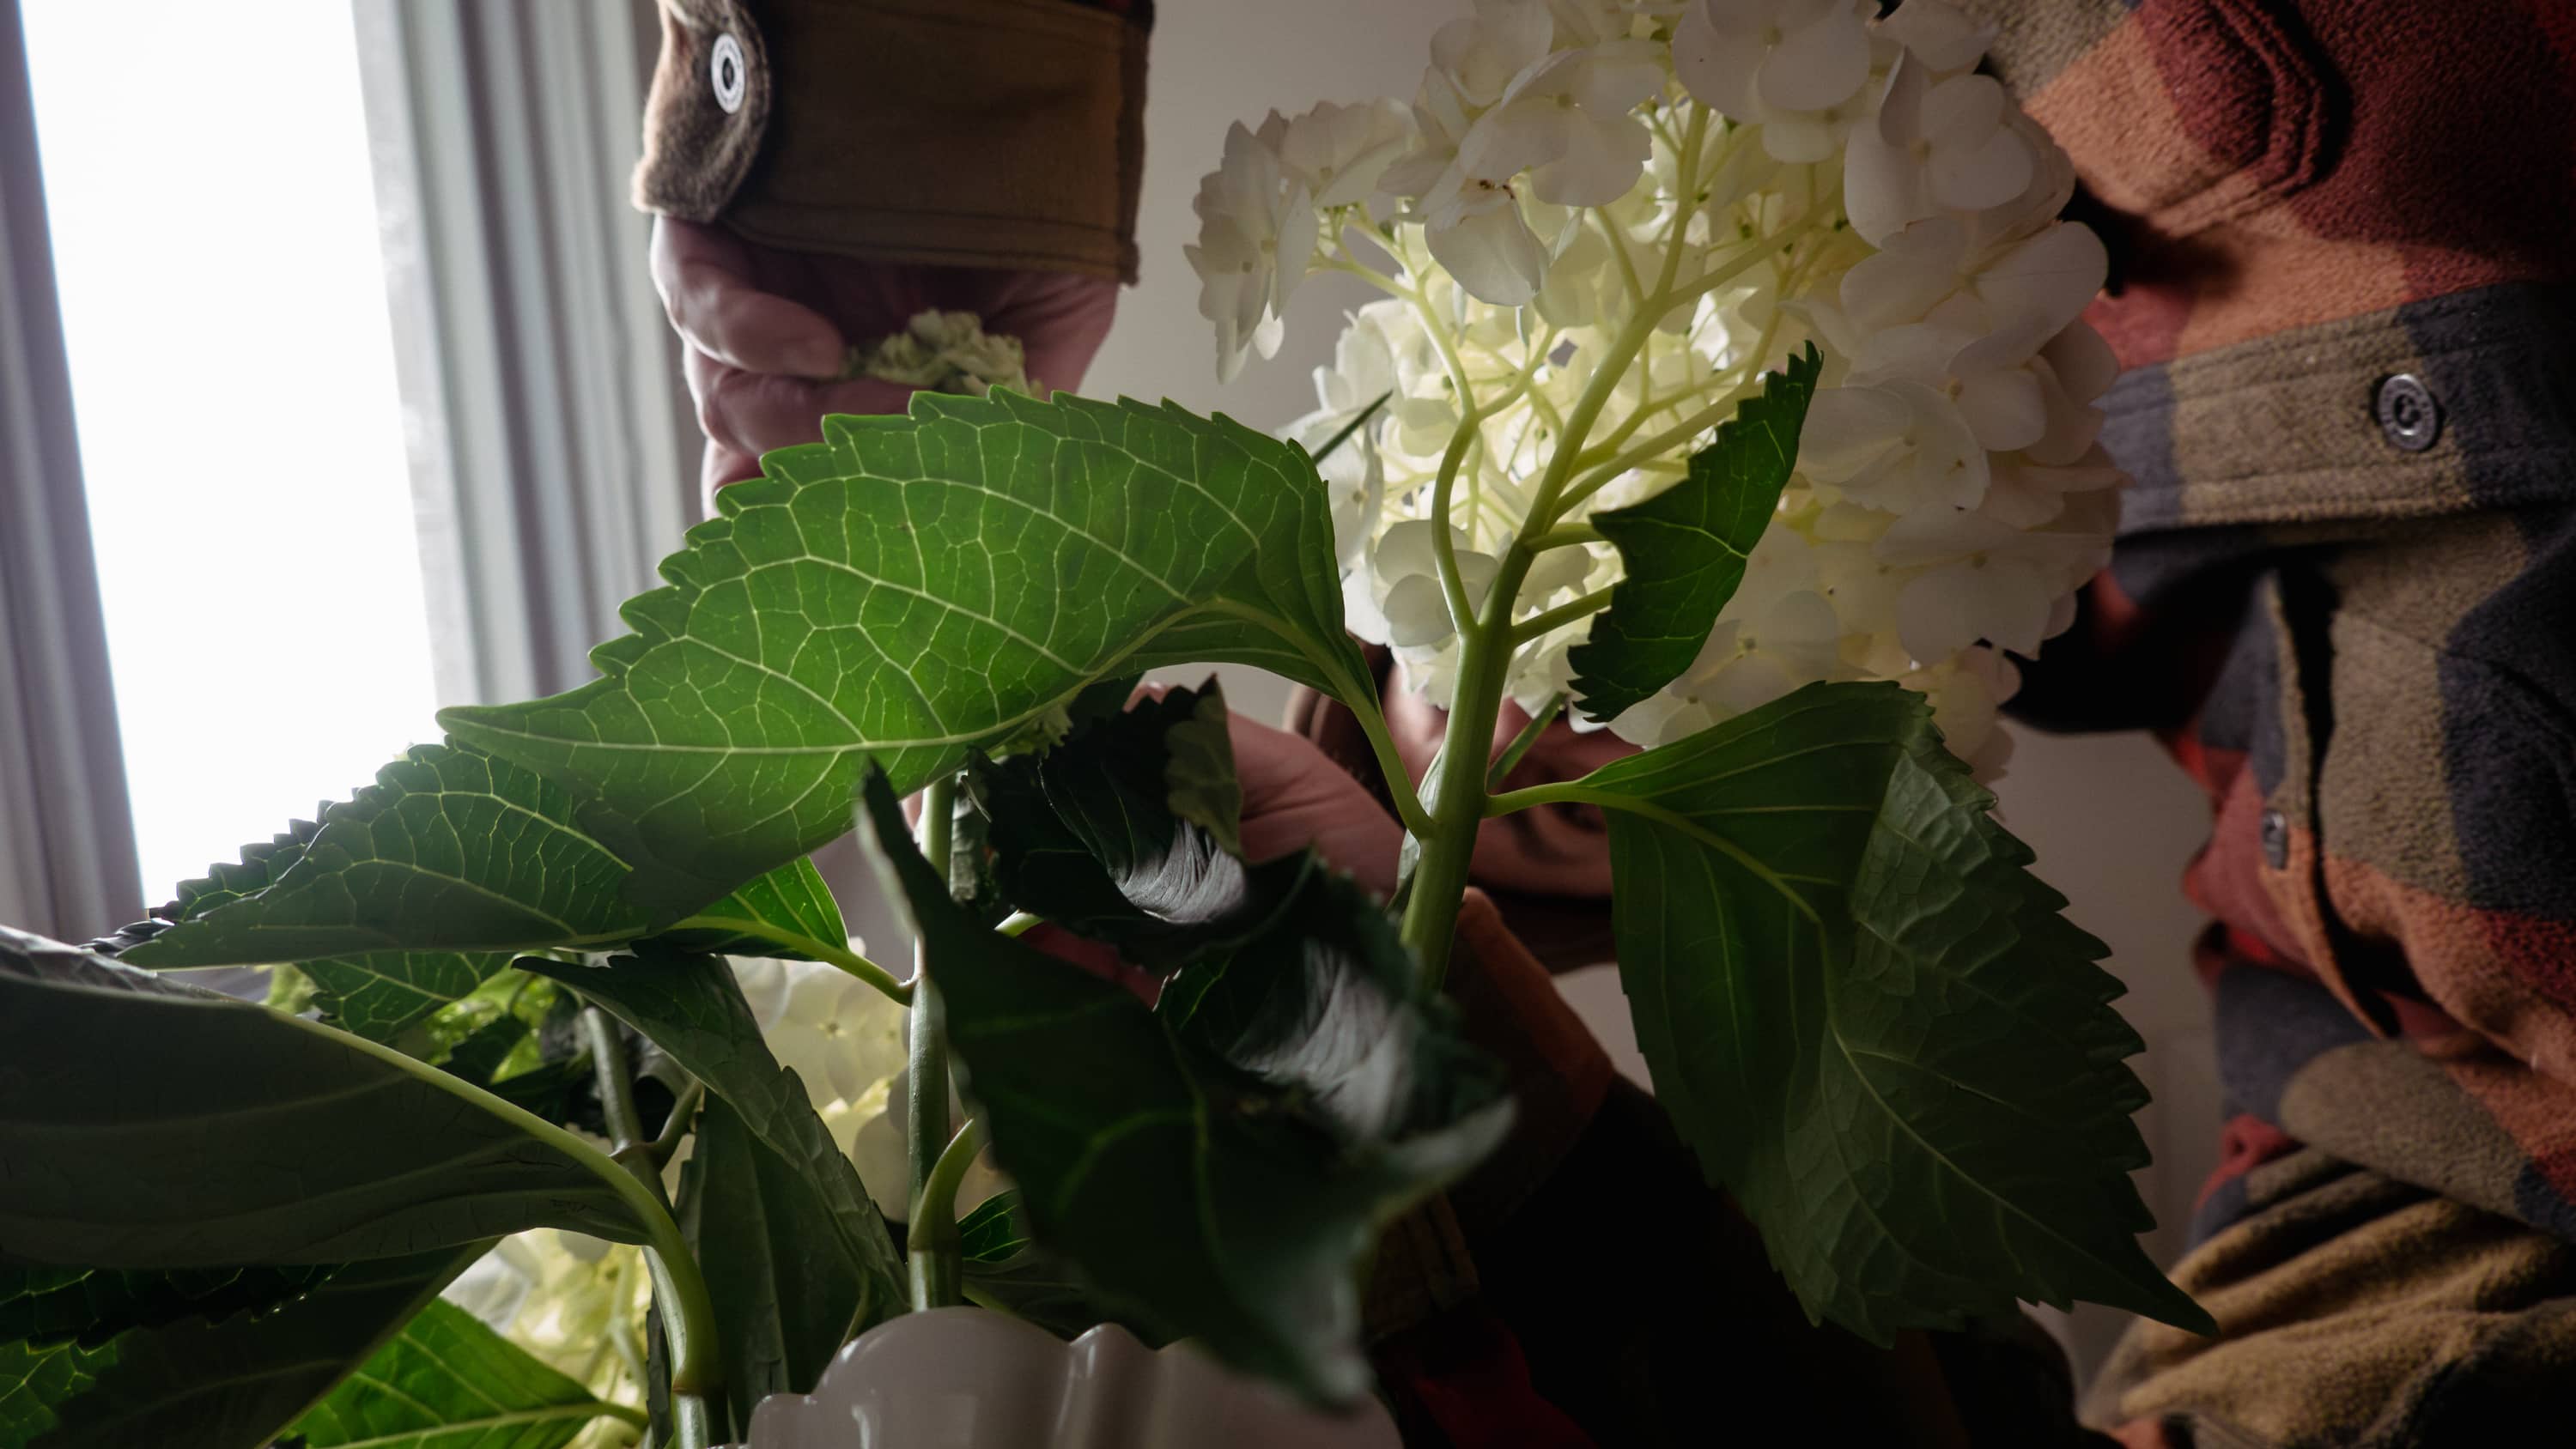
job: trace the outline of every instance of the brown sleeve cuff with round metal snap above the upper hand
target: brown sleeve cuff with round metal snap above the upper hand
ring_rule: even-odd
[[[662,0],[636,206],[799,252],[1136,281],[1146,15]]]

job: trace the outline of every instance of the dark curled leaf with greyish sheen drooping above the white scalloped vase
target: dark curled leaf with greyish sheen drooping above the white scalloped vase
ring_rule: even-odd
[[[961,1086],[1038,1241],[1157,1336],[1203,1338],[1309,1398],[1368,1392],[1355,1271],[1376,1228],[1510,1127],[1492,1066],[1448,1042],[1435,1011],[1386,996],[1388,981],[1412,978],[1401,950],[1347,955],[1391,945],[1383,919],[1319,919],[1376,906],[1334,880],[1283,916],[1280,932],[1298,939],[1236,957],[1247,965],[1229,1011],[1177,1022],[979,929],[912,847],[884,775],[866,780],[866,821],[912,903]],[[1293,999],[1291,973],[1311,999]],[[1247,1050],[1234,1063],[1221,1048]],[[1453,1066],[1461,1078],[1440,1081]]]

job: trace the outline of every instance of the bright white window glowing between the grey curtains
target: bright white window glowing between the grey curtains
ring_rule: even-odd
[[[348,0],[21,0],[144,891],[430,739]]]

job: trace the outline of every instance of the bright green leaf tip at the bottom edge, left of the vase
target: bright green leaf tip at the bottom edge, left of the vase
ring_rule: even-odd
[[[603,1413],[626,1410],[430,1300],[291,1434],[307,1449],[559,1449]]]

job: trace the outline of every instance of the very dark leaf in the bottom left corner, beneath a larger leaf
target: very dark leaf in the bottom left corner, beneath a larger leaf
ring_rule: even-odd
[[[482,1251],[350,1264],[273,1313],[98,1349],[0,1343],[0,1449],[265,1449]]]

